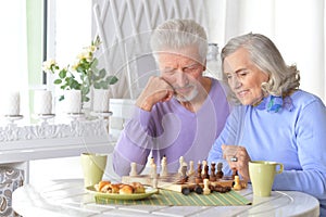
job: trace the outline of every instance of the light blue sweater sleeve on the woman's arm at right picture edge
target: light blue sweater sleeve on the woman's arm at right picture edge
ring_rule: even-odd
[[[326,108],[315,99],[302,107],[296,124],[297,150],[302,170],[276,175],[275,190],[296,190],[326,199]]]

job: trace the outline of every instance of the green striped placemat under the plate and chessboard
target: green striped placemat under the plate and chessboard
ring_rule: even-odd
[[[160,193],[153,194],[143,200],[113,200],[96,195],[98,204],[118,204],[118,205],[174,205],[174,206],[239,206],[250,205],[251,202],[235,191],[227,193],[212,192],[203,195],[191,192],[184,195],[179,192],[170,190],[160,190]]]

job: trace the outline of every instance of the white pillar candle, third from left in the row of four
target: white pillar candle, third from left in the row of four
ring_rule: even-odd
[[[80,90],[66,90],[64,92],[65,112],[79,114],[82,112]]]

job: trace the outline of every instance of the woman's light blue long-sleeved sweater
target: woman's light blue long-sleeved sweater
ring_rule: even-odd
[[[267,98],[266,98],[267,99]],[[291,106],[277,113],[261,105],[237,106],[213,144],[208,162],[223,162],[222,144],[247,149],[251,161],[283,163],[285,170],[276,175],[274,190],[294,190],[319,200],[326,216],[326,108],[315,95],[298,90],[291,94]],[[230,175],[228,166],[224,173]]]

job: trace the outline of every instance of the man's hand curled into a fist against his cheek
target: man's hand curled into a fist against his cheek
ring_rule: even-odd
[[[152,76],[136,101],[136,105],[145,111],[151,111],[158,102],[172,99],[174,90],[162,77]]]

